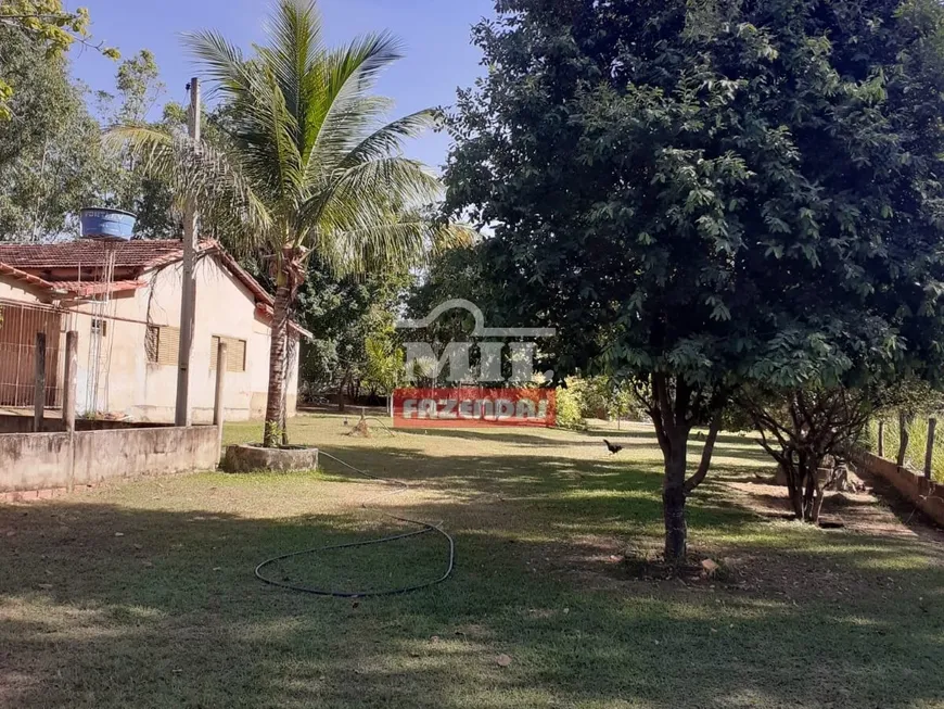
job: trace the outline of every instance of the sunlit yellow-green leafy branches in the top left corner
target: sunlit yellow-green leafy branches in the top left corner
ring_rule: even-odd
[[[16,35],[41,50],[44,60],[61,60],[75,42],[93,47],[110,59],[118,59],[118,51],[102,43],[92,43],[89,33],[89,12],[78,8],[66,10],[62,0],[2,0],[0,1],[0,41],[13,41]],[[15,91],[28,88],[17,77],[0,66],[0,122],[14,116],[27,119],[10,101]]]

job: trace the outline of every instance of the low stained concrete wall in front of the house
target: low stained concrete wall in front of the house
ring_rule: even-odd
[[[211,470],[218,463],[214,426],[7,433],[0,434],[0,493]]]

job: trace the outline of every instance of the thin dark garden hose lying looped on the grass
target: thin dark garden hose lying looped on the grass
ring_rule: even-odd
[[[361,509],[369,509],[378,515],[386,517],[387,519],[395,520],[397,522],[404,522],[406,524],[413,524],[416,527],[419,527],[420,529],[418,529],[413,532],[406,532],[405,534],[394,534],[391,536],[382,536],[382,537],[375,539],[375,540],[367,540],[366,542],[349,542],[347,544],[331,544],[329,546],[316,546],[316,547],[310,548],[310,549],[303,549],[301,552],[292,552],[291,554],[283,554],[281,556],[275,556],[271,559],[266,559],[265,561],[263,561],[261,564],[259,564],[256,567],[256,578],[257,579],[259,579],[260,581],[264,581],[265,583],[271,584],[273,586],[279,586],[280,588],[289,588],[291,591],[299,591],[302,593],[308,593],[308,594],[312,594],[316,596],[331,596],[333,598],[371,598],[371,597],[377,597],[377,596],[396,596],[396,595],[404,594],[404,593],[411,593],[413,591],[421,591],[422,588],[429,588],[430,586],[434,586],[437,583],[443,583],[446,579],[448,579],[452,574],[452,567],[455,566],[455,562],[456,562],[456,542],[452,540],[451,536],[449,536],[449,534],[447,534],[443,530],[443,528],[442,528],[443,522],[439,522],[437,524],[431,524],[429,522],[423,522],[423,521],[418,520],[418,519],[410,519],[409,517],[398,517],[396,515],[391,515],[390,512],[385,512],[378,507],[371,506],[371,503],[375,503],[379,499],[392,497],[394,495],[399,495],[399,494],[407,492],[408,490],[410,490],[410,486],[407,483],[403,482],[401,480],[391,480],[387,478],[381,478],[379,476],[373,476],[369,472],[360,470],[359,468],[355,468],[353,465],[345,463],[341,458],[335,458],[333,455],[324,453],[323,451],[320,451],[319,455],[321,455],[326,458],[330,458],[331,460],[334,460],[335,463],[340,463],[345,468],[348,468],[349,470],[353,470],[357,474],[359,474],[363,478],[367,478],[369,480],[375,480],[378,482],[385,482],[385,483],[391,483],[391,484],[397,485],[397,490],[395,490],[393,492],[377,495],[374,497],[370,497],[369,499],[365,501],[363,503],[361,503],[360,508]],[[304,586],[302,584],[291,583],[289,581],[277,581],[276,579],[267,577],[263,573],[263,570],[269,566],[278,564],[279,561],[284,561],[286,559],[293,559],[293,558],[296,558],[299,556],[306,556],[309,554],[317,555],[321,552],[329,552],[332,549],[352,549],[352,548],[356,548],[356,547],[360,547],[360,546],[373,546],[377,544],[386,544],[388,542],[396,542],[398,540],[405,540],[405,539],[409,539],[412,536],[420,536],[421,534],[429,534],[431,532],[435,532],[436,534],[442,534],[446,539],[446,542],[448,542],[448,544],[449,544],[449,558],[448,558],[448,562],[446,564],[446,572],[442,577],[439,577],[433,581],[418,583],[418,584],[412,585],[412,586],[401,586],[398,588],[386,588],[386,590],[381,590],[381,591],[331,591],[331,590],[327,590],[327,588],[316,588],[312,586]]]

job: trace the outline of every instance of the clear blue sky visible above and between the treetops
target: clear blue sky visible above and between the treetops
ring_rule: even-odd
[[[178,34],[218,29],[230,41],[248,49],[261,37],[268,0],[81,0],[66,5],[88,7],[95,39],[117,47],[124,56],[140,49],[154,52],[167,85],[164,100],[184,102],[184,86],[194,67],[180,47]],[[451,105],[457,87],[472,84],[481,72],[477,48],[470,30],[483,16],[494,14],[492,0],[320,0],[330,45],[365,31],[388,29],[406,45],[406,58],[380,80],[378,91],[393,98],[396,115]],[[114,88],[115,64],[94,52],[75,52],[73,73],[92,89]],[[394,117],[394,116],[392,116]],[[438,167],[449,139],[428,135],[409,145],[408,154]]]

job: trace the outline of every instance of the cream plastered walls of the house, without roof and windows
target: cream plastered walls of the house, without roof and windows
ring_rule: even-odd
[[[180,326],[181,265],[174,264],[142,277],[146,288],[118,293],[104,308],[107,333],[103,339],[99,385],[92,391],[92,320],[102,306],[93,302],[74,305],[78,313],[63,318],[63,330],[79,333],[76,404],[79,413],[107,413],[143,421],[173,421],[177,396],[177,367],[148,362],[144,346],[148,322]],[[190,404],[194,422],[213,418],[216,370],[211,369],[214,335],[246,341],[245,371],[227,371],[225,407],[228,420],[247,420],[265,415],[268,389],[269,327],[255,308],[253,294],[216,258],[200,259],[196,276],[196,322],[191,356]],[[37,303],[29,289],[0,277],[0,296]],[[63,334],[64,338],[64,334]],[[61,350],[64,350],[64,341]],[[297,347],[290,347],[297,352]],[[61,365],[60,365],[61,368]],[[298,387],[297,355],[288,382],[289,414],[295,413]]]

